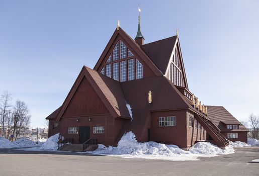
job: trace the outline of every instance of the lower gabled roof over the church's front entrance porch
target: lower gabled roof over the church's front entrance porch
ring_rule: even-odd
[[[72,99],[80,81],[83,77],[86,77],[98,96],[103,101],[104,105],[111,113],[113,117],[122,117],[130,119],[128,109],[126,107],[126,101],[124,99],[123,92],[120,87],[120,83],[113,80],[97,71],[83,66],[76,81],[74,82],[71,90],[69,91],[63,105],[60,107],[60,111],[57,114],[57,120],[59,120],[66,110],[70,100]]]

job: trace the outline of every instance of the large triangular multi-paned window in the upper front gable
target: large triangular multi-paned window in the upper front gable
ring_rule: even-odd
[[[119,40],[109,54],[101,73],[121,82],[140,79],[143,78],[143,65],[123,41]]]

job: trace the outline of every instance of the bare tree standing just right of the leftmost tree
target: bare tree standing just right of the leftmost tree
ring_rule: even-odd
[[[27,129],[30,125],[31,116],[27,105],[18,100],[14,106],[14,130],[15,139],[20,136],[21,132]]]

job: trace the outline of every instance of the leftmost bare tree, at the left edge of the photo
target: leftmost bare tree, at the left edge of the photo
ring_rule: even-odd
[[[7,116],[11,113],[11,101],[12,101],[12,95],[5,91],[0,98],[0,118],[2,123],[2,136],[4,136],[4,127]]]

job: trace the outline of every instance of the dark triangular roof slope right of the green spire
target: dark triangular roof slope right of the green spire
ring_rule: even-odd
[[[141,46],[154,64],[165,74],[167,65],[177,42],[177,36],[147,43]]]

